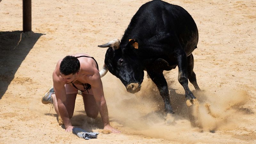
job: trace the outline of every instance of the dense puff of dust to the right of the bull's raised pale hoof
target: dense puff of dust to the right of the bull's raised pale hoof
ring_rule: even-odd
[[[194,105],[193,123],[203,130],[230,130],[243,115],[242,106],[249,100],[243,90],[220,89],[214,93],[195,92],[199,105]]]

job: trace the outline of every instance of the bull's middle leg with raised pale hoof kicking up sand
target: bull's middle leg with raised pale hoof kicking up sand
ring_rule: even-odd
[[[177,58],[177,65],[179,68],[179,75],[178,75],[178,80],[180,84],[183,86],[185,90],[185,97],[187,99],[187,105],[191,106],[193,103],[193,100],[196,99],[194,94],[189,90],[188,88],[188,62],[187,62],[187,55],[183,50],[180,50],[179,52],[176,53],[176,58]]]

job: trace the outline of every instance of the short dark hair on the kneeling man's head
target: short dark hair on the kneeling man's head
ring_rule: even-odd
[[[65,76],[70,74],[74,75],[76,72],[78,72],[79,68],[80,62],[74,56],[68,55],[60,62],[60,72]]]

